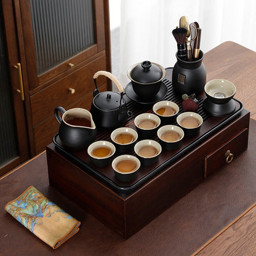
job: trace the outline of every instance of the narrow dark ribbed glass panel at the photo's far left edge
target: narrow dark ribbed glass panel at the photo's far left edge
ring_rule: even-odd
[[[18,156],[9,63],[0,6],[0,167]]]

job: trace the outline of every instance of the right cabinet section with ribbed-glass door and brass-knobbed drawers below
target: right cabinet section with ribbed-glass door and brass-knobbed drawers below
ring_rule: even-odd
[[[58,130],[57,122],[46,127],[54,118],[54,108],[71,108],[82,98],[88,103],[95,89],[94,73],[110,71],[108,1],[13,1],[20,8],[29,96],[26,111],[34,155]],[[103,84],[106,79],[101,78]]]

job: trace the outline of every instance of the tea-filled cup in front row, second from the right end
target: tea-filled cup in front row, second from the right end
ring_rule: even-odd
[[[175,150],[182,145],[183,130],[178,126],[167,125],[158,129],[158,138],[166,150]]]

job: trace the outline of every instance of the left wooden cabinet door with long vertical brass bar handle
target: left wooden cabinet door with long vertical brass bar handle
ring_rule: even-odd
[[[0,71],[0,175],[29,158],[25,100],[20,85],[24,63],[18,46],[15,6],[1,1],[1,71]],[[17,32],[17,33],[16,33]],[[21,68],[21,70],[18,70]],[[26,96],[25,96],[26,97]]]

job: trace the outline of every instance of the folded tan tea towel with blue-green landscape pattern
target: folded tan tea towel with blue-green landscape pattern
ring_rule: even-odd
[[[10,201],[5,209],[53,249],[78,233],[78,220],[49,201],[34,186]]]

